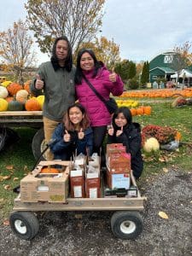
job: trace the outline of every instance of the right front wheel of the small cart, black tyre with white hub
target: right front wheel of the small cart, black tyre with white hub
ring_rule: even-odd
[[[111,229],[114,236],[121,239],[134,239],[143,230],[143,219],[139,212],[114,212],[111,218]]]

